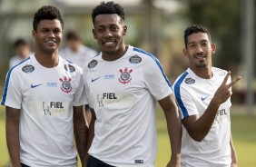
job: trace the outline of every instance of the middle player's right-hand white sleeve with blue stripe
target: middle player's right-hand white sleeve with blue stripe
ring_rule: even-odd
[[[172,93],[172,84],[164,74],[162,64],[152,54],[143,64],[143,82],[156,100],[162,100]]]

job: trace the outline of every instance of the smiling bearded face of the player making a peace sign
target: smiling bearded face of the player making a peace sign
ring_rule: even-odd
[[[187,47],[183,50],[189,58],[192,71],[209,69],[212,67],[212,54],[216,45],[211,44],[206,33],[194,33],[188,36]]]

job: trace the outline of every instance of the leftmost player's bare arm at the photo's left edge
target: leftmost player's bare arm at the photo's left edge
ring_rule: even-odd
[[[13,167],[20,167],[20,110],[6,106],[6,142]]]

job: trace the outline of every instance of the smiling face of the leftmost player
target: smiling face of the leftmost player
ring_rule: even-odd
[[[57,53],[62,41],[63,29],[59,20],[42,20],[32,32],[37,51],[42,54]]]

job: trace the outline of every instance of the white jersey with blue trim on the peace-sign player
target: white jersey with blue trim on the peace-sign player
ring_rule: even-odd
[[[212,67],[212,74],[212,79],[203,79],[187,69],[172,85],[182,119],[195,114],[201,116],[208,108],[227,72]],[[231,165],[230,107],[231,99],[222,103],[210,132],[202,142],[194,141],[182,126],[182,167]]]

